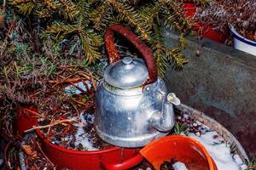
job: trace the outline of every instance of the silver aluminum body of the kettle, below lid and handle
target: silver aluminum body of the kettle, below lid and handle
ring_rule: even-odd
[[[140,147],[165,136],[174,125],[173,105],[166,95],[161,78],[137,95],[113,94],[113,88],[102,82],[96,91],[96,133],[109,144],[123,147]],[[163,129],[157,127],[161,119],[166,121]]]

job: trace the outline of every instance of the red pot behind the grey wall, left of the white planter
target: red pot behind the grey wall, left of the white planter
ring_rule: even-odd
[[[184,15],[188,19],[192,19],[196,12],[195,3],[183,3],[182,5]],[[228,37],[226,33],[221,31],[215,31],[211,26],[203,26],[201,23],[196,23],[193,29],[197,32],[197,35],[207,37],[216,42],[224,42]]]

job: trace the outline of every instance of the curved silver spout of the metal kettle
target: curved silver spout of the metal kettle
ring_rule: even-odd
[[[175,94],[168,94],[163,102],[161,112],[155,112],[150,117],[150,124],[160,132],[167,132],[172,129],[175,123],[173,105],[180,105],[180,100]]]

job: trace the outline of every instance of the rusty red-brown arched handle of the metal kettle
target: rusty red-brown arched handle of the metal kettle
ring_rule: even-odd
[[[147,84],[155,82],[157,80],[157,66],[154,62],[154,55],[151,52],[151,49],[141,41],[133,32],[126,29],[124,26],[120,25],[111,25],[108,26],[107,31],[104,35],[104,42],[106,44],[109,62],[113,63],[120,59],[118,50],[114,46],[113,42],[113,32],[119,33],[119,35],[125,37],[128,41],[130,41],[135,48],[139,51],[140,54],[143,55],[143,60],[148,69],[148,79],[146,82],[143,82],[143,87]]]

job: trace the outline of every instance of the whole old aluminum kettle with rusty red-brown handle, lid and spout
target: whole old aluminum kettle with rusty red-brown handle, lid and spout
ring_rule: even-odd
[[[113,32],[126,37],[143,59],[119,59]],[[96,90],[96,133],[109,144],[122,147],[140,147],[165,136],[174,126],[173,105],[180,100],[167,94],[150,48],[119,25],[108,27],[104,41],[110,65]]]

